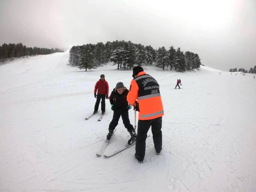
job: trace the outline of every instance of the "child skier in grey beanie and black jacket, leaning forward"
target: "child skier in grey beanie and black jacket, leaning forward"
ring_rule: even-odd
[[[122,116],[124,127],[131,135],[131,138],[128,140],[128,144],[130,145],[136,140],[136,133],[129,120],[128,110],[131,109],[132,106],[130,106],[126,100],[128,92],[129,90],[124,87],[124,84],[122,82],[118,82],[115,89],[113,89],[113,91],[111,92],[109,101],[111,104],[111,109],[114,111],[114,114],[113,119],[108,127],[107,140],[110,140],[114,129],[118,124],[119,118],[120,116]]]

